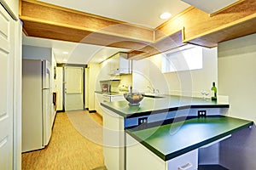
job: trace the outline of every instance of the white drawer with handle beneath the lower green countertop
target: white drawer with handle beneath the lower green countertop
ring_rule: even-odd
[[[198,167],[198,150],[189,151],[167,162],[168,170],[195,170]]]

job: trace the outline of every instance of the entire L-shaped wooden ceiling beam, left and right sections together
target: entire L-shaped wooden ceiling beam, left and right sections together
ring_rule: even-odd
[[[212,16],[191,7],[150,29],[36,0],[20,0],[20,20],[27,36],[128,48],[130,59],[143,59],[185,43],[212,48],[218,42],[256,33],[255,11],[255,0],[244,0]]]

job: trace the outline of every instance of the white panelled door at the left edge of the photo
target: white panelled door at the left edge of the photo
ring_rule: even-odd
[[[0,169],[13,169],[15,21],[0,5]]]

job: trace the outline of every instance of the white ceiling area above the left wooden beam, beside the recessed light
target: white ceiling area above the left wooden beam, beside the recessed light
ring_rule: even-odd
[[[180,0],[40,0],[61,7],[73,8],[90,14],[96,14],[115,20],[155,28],[166,20],[160,14],[169,12],[176,15],[186,8],[188,3]],[[75,3],[74,3],[75,2]]]

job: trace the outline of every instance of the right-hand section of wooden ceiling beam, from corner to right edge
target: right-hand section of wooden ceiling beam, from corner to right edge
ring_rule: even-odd
[[[173,29],[183,26],[183,42],[207,48],[216,47],[218,42],[256,33],[255,11],[255,0],[244,0],[212,16],[198,8],[188,8],[158,26],[155,31],[159,33],[155,37],[156,40],[163,38],[172,33]]]

